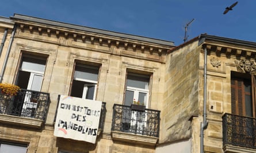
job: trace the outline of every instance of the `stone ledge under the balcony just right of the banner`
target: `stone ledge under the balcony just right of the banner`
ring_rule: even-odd
[[[146,146],[155,146],[158,138],[152,136],[144,136],[139,134],[130,134],[120,131],[112,131],[111,136],[113,140],[128,142],[133,144],[142,144]]]

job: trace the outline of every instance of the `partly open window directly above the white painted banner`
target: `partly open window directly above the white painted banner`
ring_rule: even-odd
[[[76,64],[71,96],[95,100],[98,83],[98,66]]]

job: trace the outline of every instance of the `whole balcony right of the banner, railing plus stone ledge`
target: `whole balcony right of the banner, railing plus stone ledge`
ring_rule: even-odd
[[[112,138],[155,146],[159,137],[160,111],[132,109],[131,106],[114,104]]]

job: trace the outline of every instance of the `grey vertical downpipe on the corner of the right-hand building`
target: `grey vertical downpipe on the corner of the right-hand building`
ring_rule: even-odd
[[[200,125],[200,152],[204,153],[204,130],[207,129],[207,48],[204,48],[204,112],[203,120]]]

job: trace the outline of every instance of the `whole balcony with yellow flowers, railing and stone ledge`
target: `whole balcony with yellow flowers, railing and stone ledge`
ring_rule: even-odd
[[[0,93],[0,122],[41,128],[49,105],[49,93],[21,89],[16,96]]]

